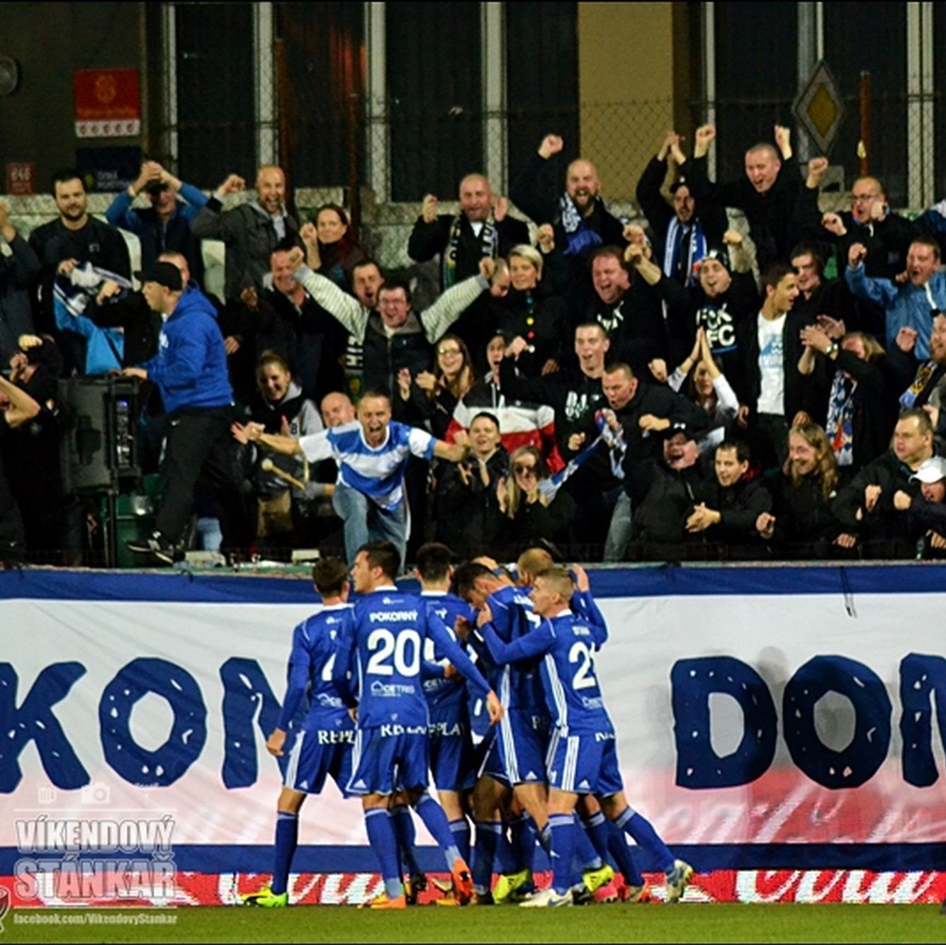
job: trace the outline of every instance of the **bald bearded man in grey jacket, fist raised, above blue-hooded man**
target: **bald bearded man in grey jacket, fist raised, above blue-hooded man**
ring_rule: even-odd
[[[302,246],[299,224],[286,210],[286,175],[282,168],[263,165],[256,172],[256,199],[223,210],[223,201],[246,188],[231,174],[194,218],[191,230],[202,239],[222,239],[226,244],[224,294],[239,300],[243,289],[262,289],[276,247]]]

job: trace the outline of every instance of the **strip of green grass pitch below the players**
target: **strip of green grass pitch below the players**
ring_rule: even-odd
[[[351,906],[253,909],[237,906],[95,910],[173,916],[174,924],[83,924],[81,909],[20,909],[3,919],[3,942],[946,942],[937,905],[682,903],[515,906],[418,906],[371,912]],[[44,917],[43,923],[24,921]],[[56,921],[56,917],[59,921]]]

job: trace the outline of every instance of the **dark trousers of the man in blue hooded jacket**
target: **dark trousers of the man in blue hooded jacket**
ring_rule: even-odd
[[[200,482],[216,499],[225,549],[247,544],[247,516],[234,458],[232,407],[184,408],[167,419],[161,464],[164,499],[155,527],[178,544]]]

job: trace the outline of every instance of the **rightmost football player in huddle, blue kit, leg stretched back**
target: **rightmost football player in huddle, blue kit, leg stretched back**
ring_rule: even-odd
[[[624,796],[617,736],[604,708],[594,666],[594,653],[604,645],[607,628],[587,588],[583,590],[582,612],[576,614],[569,605],[574,592],[569,571],[554,568],[541,572],[531,597],[534,612],[542,621],[529,634],[511,641],[491,625],[488,604],[481,608],[482,634],[498,663],[543,657],[541,672],[552,715],[552,885],[522,905],[571,904],[571,862],[577,839],[574,810],[583,794],[597,796],[604,814],[657,858],[666,875],[667,901],[679,901],[692,878],[692,867],[674,859],[650,822],[634,811]]]

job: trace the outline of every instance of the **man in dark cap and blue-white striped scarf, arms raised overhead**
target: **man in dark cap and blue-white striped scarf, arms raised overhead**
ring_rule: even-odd
[[[671,187],[673,203],[660,193],[667,176],[667,154],[674,158],[677,172],[683,175]],[[690,185],[686,182],[686,155],[680,150],[680,136],[668,131],[657,156],[651,158],[638,182],[637,198],[647,222],[654,231],[657,255],[665,275],[681,286],[696,282],[695,267],[714,247],[720,245],[727,229],[726,211],[716,209],[707,215],[697,213]]]

